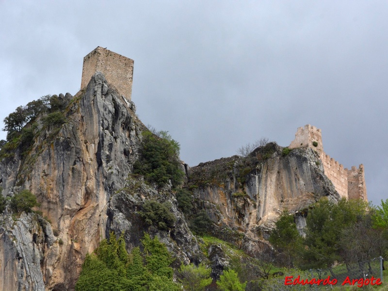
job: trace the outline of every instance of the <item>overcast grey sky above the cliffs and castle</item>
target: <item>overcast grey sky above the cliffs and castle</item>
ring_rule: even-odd
[[[262,136],[288,146],[311,124],[327,154],[364,164],[380,204],[387,36],[387,1],[0,0],[0,120],[41,96],[76,94],[83,57],[107,47],[135,61],[137,113],[169,130],[189,165]]]

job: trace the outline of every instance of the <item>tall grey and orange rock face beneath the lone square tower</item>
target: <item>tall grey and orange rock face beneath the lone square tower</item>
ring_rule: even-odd
[[[0,162],[2,194],[13,195],[17,185],[36,195],[42,212],[14,217],[3,214],[0,228],[0,290],[74,290],[86,254],[116,230],[127,246],[138,245],[147,229],[136,212],[146,199],[169,200],[177,217],[170,233],[150,229],[171,251],[188,262],[198,244],[176,208],[171,189],[163,194],[138,181],[127,187],[138,157],[141,132],[134,104],[119,95],[96,73],[72,98],[59,129],[43,127],[27,157],[19,152]],[[51,231],[52,228],[52,231]],[[52,232],[57,236],[54,237]]]

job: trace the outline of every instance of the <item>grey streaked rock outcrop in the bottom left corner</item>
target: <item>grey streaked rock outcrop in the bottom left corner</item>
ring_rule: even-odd
[[[0,226],[0,289],[44,291],[43,254],[53,247],[50,224],[34,213],[17,220],[3,215]]]

